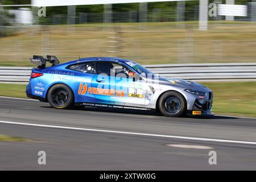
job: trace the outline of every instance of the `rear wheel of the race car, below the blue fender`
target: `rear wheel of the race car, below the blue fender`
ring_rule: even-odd
[[[55,109],[68,109],[73,105],[73,92],[64,84],[53,85],[47,94],[49,104]]]

